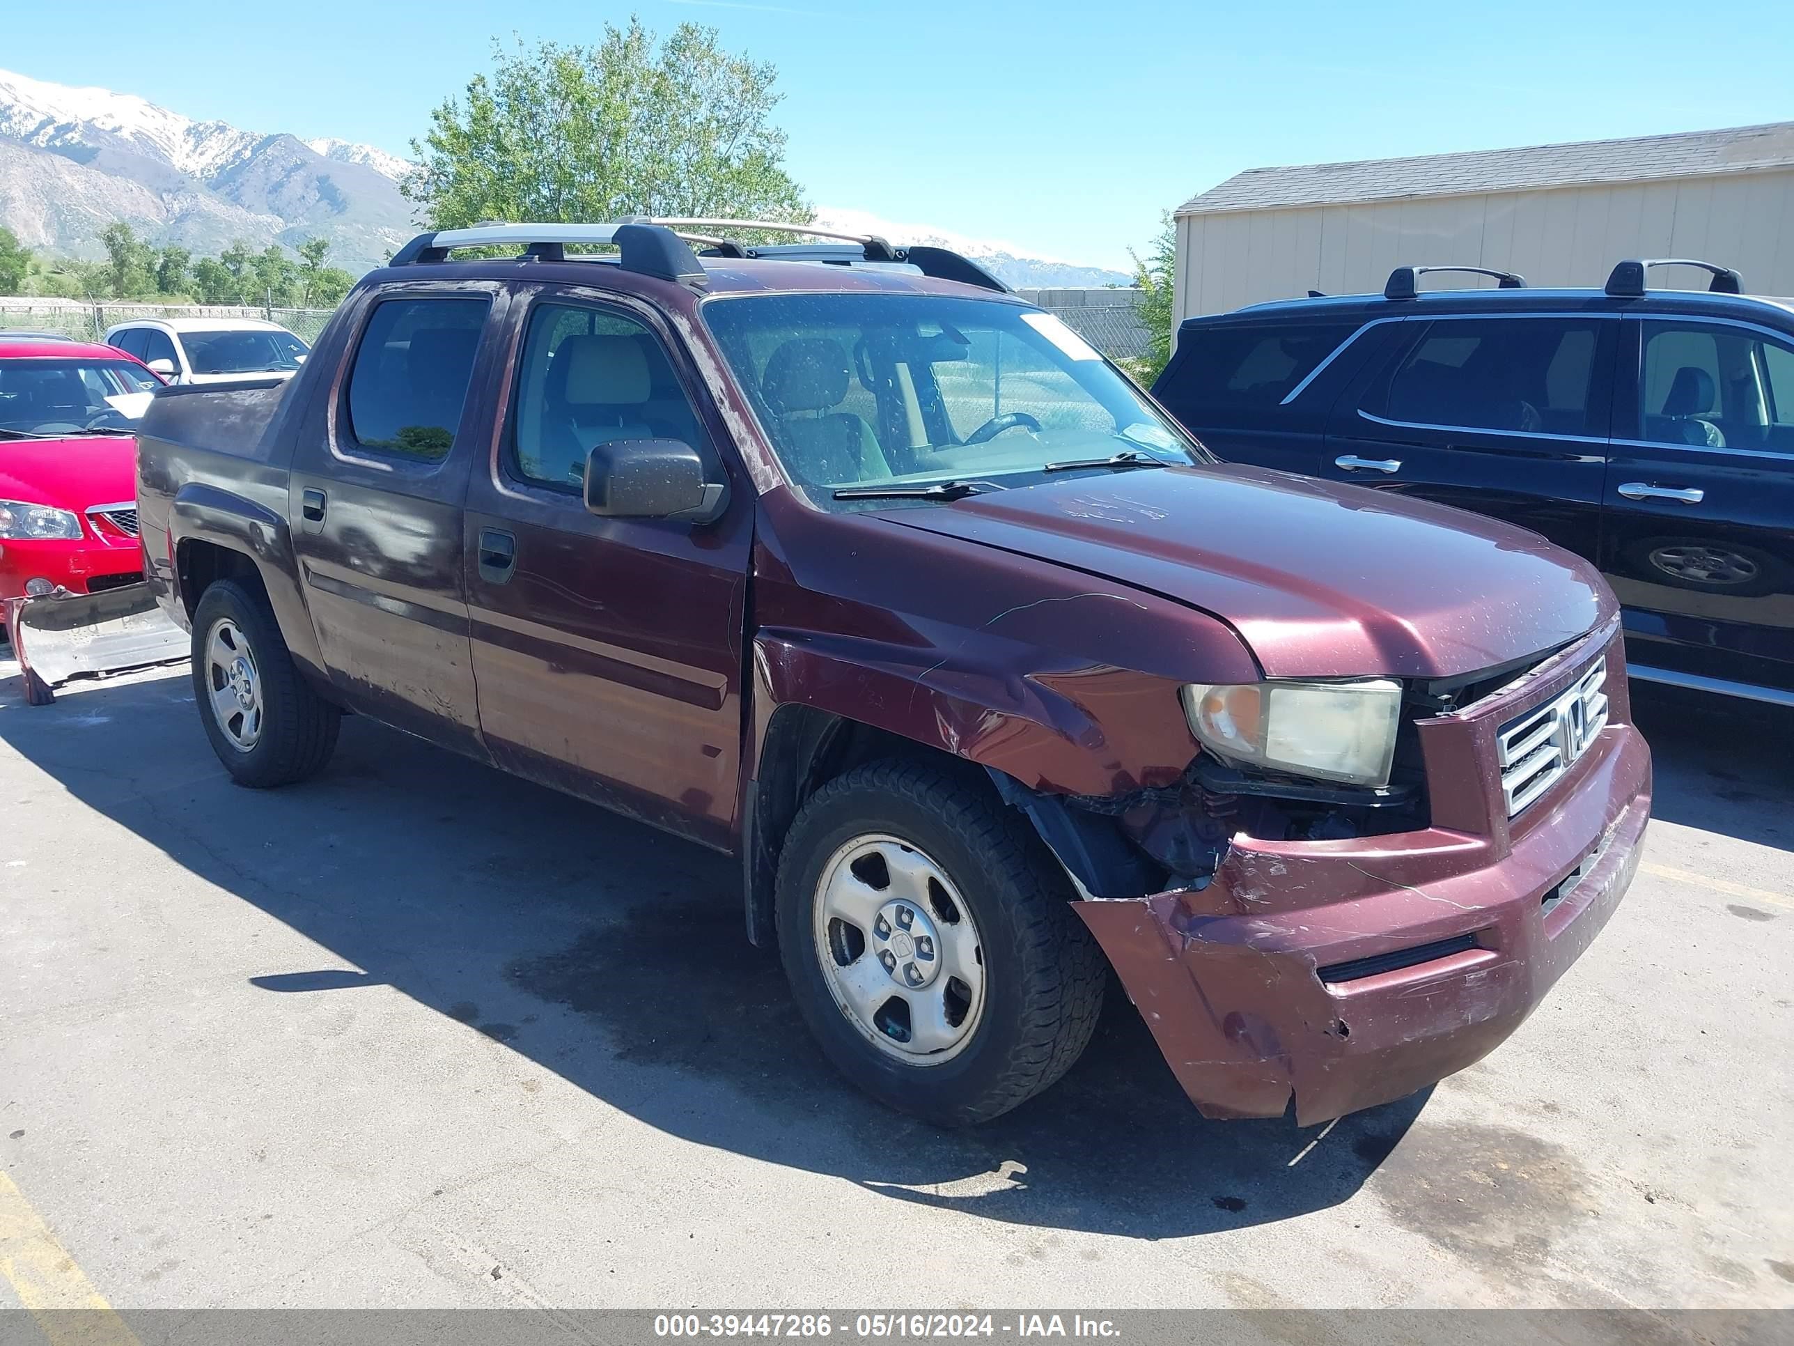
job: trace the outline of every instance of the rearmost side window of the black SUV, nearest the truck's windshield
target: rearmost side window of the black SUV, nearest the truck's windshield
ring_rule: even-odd
[[[1356,323],[1198,327],[1182,336],[1154,391],[1186,425],[1274,407],[1356,330]]]

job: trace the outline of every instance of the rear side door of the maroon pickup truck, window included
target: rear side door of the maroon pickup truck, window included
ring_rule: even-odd
[[[497,302],[495,287],[423,287],[366,303],[328,406],[300,434],[289,501],[337,695],[475,756],[461,510],[468,463],[492,441],[475,373]]]

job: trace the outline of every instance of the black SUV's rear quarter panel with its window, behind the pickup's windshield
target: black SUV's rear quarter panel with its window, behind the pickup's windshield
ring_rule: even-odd
[[[1360,328],[1356,318],[1195,323],[1152,395],[1216,458],[1313,476],[1338,380],[1385,336]]]

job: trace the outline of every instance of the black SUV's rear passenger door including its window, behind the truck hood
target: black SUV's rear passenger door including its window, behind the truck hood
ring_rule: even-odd
[[[1437,316],[1335,407],[1322,476],[1453,504],[1595,560],[1618,319]]]

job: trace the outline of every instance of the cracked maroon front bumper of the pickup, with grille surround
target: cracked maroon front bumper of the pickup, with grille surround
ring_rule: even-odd
[[[1606,653],[1609,725],[1514,820],[1494,730],[1561,693],[1588,648],[1421,723],[1428,779],[1453,786],[1432,827],[1236,836],[1200,890],[1076,903],[1206,1116],[1281,1116],[1293,1093],[1306,1125],[1401,1098],[1480,1061],[1545,998],[1618,906],[1650,813],[1618,641]]]

